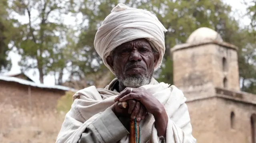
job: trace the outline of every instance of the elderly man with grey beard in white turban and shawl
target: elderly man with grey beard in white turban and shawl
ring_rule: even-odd
[[[146,10],[118,4],[98,29],[94,47],[116,75],[104,89],[90,86],[74,102],[56,143],[129,143],[129,121],[140,126],[140,143],[196,143],[186,98],[158,83],[167,30]],[[126,101],[127,108],[120,102]]]

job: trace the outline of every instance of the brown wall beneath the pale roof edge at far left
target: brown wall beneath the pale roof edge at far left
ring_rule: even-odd
[[[42,89],[16,82],[0,81],[0,104],[12,104],[16,108],[54,110],[63,90]],[[31,95],[31,96],[30,96]]]

